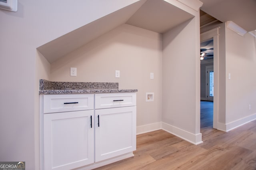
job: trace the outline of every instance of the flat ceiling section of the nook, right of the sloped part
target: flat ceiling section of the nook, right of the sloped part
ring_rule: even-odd
[[[126,24],[164,33],[192,17],[191,14],[166,1],[147,0]]]

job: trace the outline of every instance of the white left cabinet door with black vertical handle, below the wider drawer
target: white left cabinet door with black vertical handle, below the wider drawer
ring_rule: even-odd
[[[44,114],[45,170],[68,170],[94,162],[93,115],[93,110]]]

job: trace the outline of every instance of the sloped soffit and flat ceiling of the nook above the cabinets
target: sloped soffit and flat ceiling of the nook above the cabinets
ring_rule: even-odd
[[[193,17],[164,0],[140,0],[37,49],[49,63],[53,63],[60,57],[125,23],[164,33]]]

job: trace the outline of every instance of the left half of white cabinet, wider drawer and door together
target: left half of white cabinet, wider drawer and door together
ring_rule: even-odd
[[[44,170],[94,162],[94,94],[43,96]]]

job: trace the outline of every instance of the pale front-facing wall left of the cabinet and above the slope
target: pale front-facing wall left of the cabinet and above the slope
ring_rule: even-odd
[[[18,1],[18,12],[0,10],[1,161],[39,168],[38,81],[48,73],[36,70],[49,64],[36,47],[136,1],[26,0]]]

